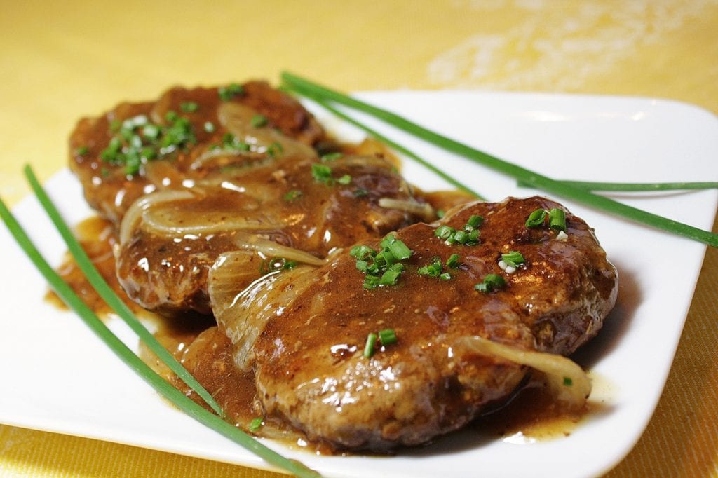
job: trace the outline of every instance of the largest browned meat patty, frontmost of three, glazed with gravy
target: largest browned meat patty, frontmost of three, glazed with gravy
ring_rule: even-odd
[[[267,416],[345,448],[423,443],[508,398],[528,372],[472,352],[463,337],[568,355],[612,309],[616,271],[583,220],[566,212],[566,237],[547,220],[526,227],[531,212],[554,208],[564,210],[541,197],[457,207],[396,232],[413,251],[396,285],[364,289],[365,274],[345,250],[314,271],[266,276],[239,296],[246,303],[234,316],[215,310],[218,322],[240,350],[238,365],[253,367]],[[484,218],[477,245],[435,235],[442,225],[462,230],[472,215]],[[513,273],[500,264],[510,251],[524,259]],[[447,266],[453,254],[457,268]],[[437,261],[449,276],[422,269]],[[505,286],[476,290],[490,274]],[[213,305],[223,300],[213,292]],[[368,334],[382,329],[393,329],[396,343],[363,356]]]

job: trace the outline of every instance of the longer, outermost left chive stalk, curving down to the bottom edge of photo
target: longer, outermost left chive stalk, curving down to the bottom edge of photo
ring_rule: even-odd
[[[111,348],[113,352],[134,370],[138,375],[143,378],[146,383],[149,383],[154,390],[167,398],[167,400],[174,403],[175,406],[180,410],[187,413],[187,415],[195,418],[195,420],[203,423],[204,425],[217,431],[219,434],[226,436],[228,439],[234,441],[236,444],[243,448],[251,451],[253,454],[264,459],[267,463],[286,470],[286,472],[297,475],[298,477],[318,477],[319,474],[314,470],[305,467],[299,461],[288,459],[276,451],[269,449],[263,444],[259,443],[251,436],[245,434],[236,426],[224,421],[222,418],[216,416],[214,413],[206,410],[200,405],[197,405],[192,399],[187,398],[184,393],[169,385],[164,378],[154,372],[146,363],[144,363],[129,347],[127,347],[120,339],[112,333],[110,329],[95,315],[80,297],[75,294],[75,291],[62,281],[59,275],[52,269],[49,263],[45,261],[42,254],[32,243],[32,240],[27,236],[27,233],[23,230],[22,226],[19,225],[17,219],[12,215],[5,203],[0,199],[0,217],[5,222],[5,225],[9,229],[11,235],[15,238],[22,250],[25,251],[27,256],[30,258],[32,263],[37,267],[38,271],[45,276],[45,279],[50,284],[52,289],[55,291],[57,296],[67,304],[70,309],[73,309],[80,319],[97,334],[103,342]]]

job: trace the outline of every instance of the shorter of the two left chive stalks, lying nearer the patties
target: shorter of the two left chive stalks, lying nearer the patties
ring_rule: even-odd
[[[197,395],[200,395],[202,400],[205,400],[205,403],[207,403],[215,411],[215,413],[223,416],[222,407],[220,407],[219,403],[217,403],[213,396],[204,387],[202,387],[192,374],[188,372],[187,369],[162,346],[162,344],[159,343],[154,335],[152,335],[141,322],[139,322],[127,304],[125,304],[108,285],[102,275],[98,272],[97,268],[95,268],[92,260],[88,257],[87,253],[85,253],[85,250],[82,248],[78,240],[75,239],[75,236],[72,231],[70,231],[70,228],[67,227],[65,220],[62,219],[57,207],[55,207],[52,200],[50,200],[50,197],[45,192],[45,189],[43,189],[42,185],[40,185],[39,181],[37,181],[37,177],[34,172],[32,172],[32,168],[29,167],[29,165],[24,167],[24,173],[30,187],[32,187],[32,190],[37,196],[37,199],[42,207],[45,208],[45,212],[47,212],[47,215],[50,217],[50,220],[52,220],[55,228],[57,228],[57,232],[60,233],[62,239],[65,240],[67,250],[70,250],[70,254],[72,254],[73,258],[75,258],[75,262],[78,264],[80,271],[85,274],[85,278],[87,278],[90,285],[93,286],[93,289],[95,289],[108,306],[110,306],[111,309],[117,313],[118,317],[120,317],[123,322],[125,322],[133,330],[133,332],[137,334],[142,342],[147,345],[149,350],[154,352],[154,354],[159,357],[159,360],[162,360],[162,362],[169,367],[169,370],[172,370],[172,372],[177,374],[177,377],[192,388],[192,390],[195,390]]]

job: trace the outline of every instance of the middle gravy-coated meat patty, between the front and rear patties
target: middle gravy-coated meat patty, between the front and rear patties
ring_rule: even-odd
[[[169,200],[149,204],[159,195]],[[155,193],[133,206],[122,223],[118,278],[146,309],[170,316],[210,314],[207,276],[220,253],[247,250],[261,240],[322,263],[336,248],[416,221],[409,212],[380,207],[386,198],[411,201],[411,189],[376,156],[325,162],[295,157],[223,176],[213,186]],[[235,278],[236,286],[273,267],[266,260],[274,256],[291,259],[262,247],[243,256],[245,273]]]

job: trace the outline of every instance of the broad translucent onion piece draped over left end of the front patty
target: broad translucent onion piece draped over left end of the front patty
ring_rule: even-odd
[[[312,283],[313,268],[296,268],[256,277],[253,253],[239,250],[222,254],[210,269],[208,291],[217,323],[234,345],[234,360],[248,370],[254,357],[254,344],[267,322],[279,317]],[[256,261],[255,261],[256,262]],[[291,284],[291,286],[288,286]]]

